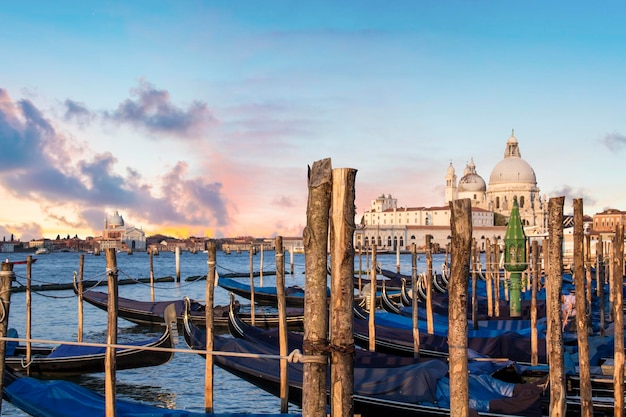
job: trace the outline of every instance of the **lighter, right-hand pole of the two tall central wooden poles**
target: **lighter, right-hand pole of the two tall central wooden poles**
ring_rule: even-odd
[[[330,415],[354,415],[354,248],[356,169],[333,169],[331,203]],[[374,288],[376,280],[373,281]],[[372,300],[372,309],[376,306]]]

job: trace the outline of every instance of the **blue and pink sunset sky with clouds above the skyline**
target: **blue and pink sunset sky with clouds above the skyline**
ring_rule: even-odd
[[[442,206],[515,129],[545,198],[626,210],[626,4],[0,1],[0,236],[301,236],[307,170]]]

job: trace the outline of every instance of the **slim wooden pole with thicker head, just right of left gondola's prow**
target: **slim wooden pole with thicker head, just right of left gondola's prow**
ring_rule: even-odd
[[[215,304],[215,265],[217,260],[217,245],[214,240],[207,242],[208,262],[207,262],[207,277],[206,277],[206,306],[204,308],[204,318],[206,322],[206,350],[211,352],[213,350],[213,329],[214,329],[214,310]],[[204,412],[213,412],[213,355],[206,355],[204,364]]]

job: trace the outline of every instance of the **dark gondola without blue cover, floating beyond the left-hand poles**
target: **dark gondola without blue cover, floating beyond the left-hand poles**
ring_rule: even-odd
[[[109,295],[107,293],[87,290],[83,291],[83,300],[101,310],[107,311]],[[171,301],[137,301],[130,298],[118,297],[118,317],[132,323],[155,326],[163,323],[163,314],[168,305],[174,306],[176,319],[179,324],[183,323],[185,311],[184,300]],[[206,306],[198,301],[191,300],[190,317],[198,326],[206,326]],[[251,321],[249,311],[241,312],[244,320]],[[254,323],[260,327],[274,327],[278,325],[278,313],[272,311],[255,312]],[[304,310],[301,308],[289,308],[287,311],[287,325],[290,328],[301,328],[304,323]],[[215,328],[228,328],[228,306],[215,306],[213,309],[213,326]]]

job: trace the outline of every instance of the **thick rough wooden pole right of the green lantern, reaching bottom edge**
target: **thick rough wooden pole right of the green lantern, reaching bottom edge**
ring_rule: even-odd
[[[563,286],[563,203],[565,197],[548,202],[549,268],[546,279],[548,332],[546,345],[550,364],[550,417],[564,417],[567,410],[561,289]]]

